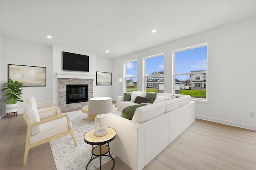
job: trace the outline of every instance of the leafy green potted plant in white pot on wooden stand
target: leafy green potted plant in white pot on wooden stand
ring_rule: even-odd
[[[22,85],[23,83],[19,83],[18,81],[12,81],[8,77],[9,83],[4,83],[1,91],[6,91],[4,97],[7,97],[4,102],[7,101],[6,104],[6,113],[12,113],[18,111],[18,103],[17,101],[23,102],[22,100]]]

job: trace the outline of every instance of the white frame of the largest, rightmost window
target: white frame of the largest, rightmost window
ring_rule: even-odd
[[[175,73],[175,54],[177,52],[180,52],[180,51],[186,51],[186,50],[190,50],[190,49],[195,49],[195,48],[199,48],[199,47],[204,47],[204,46],[207,46],[207,71],[201,71],[201,72],[196,72],[196,74],[204,74],[206,73],[206,76],[207,76],[207,79],[206,79],[206,87],[208,87],[206,89],[206,98],[196,98],[196,97],[192,97],[191,101],[196,101],[196,102],[202,102],[202,103],[210,103],[210,76],[209,76],[209,73],[210,73],[210,56],[209,56],[209,50],[210,50],[210,43],[202,43],[202,44],[198,44],[198,45],[193,45],[193,46],[190,46],[190,47],[185,47],[185,48],[182,48],[182,49],[177,49],[177,50],[174,50],[172,51],[172,93],[175,94],[175,79],[176,79],[176,76],[177,75],[193,75],[194,73]],[[205,76],[205,77],[206,77]],[[200,77],[200,80],[202,80],[202,78]],[[203,77],[203,80],[204,80],[204,77]]]

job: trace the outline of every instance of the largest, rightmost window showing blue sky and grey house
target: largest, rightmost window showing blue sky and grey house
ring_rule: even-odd
[[[176,94],[190,95],[206,100],[207,43],[173,51],[174,90]],[[180,83],[180,90],[175,85]]]

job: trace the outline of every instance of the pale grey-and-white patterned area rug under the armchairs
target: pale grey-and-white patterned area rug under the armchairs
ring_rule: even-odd
[[[115,115],[121,115],[120,111],[113,111]],[[73,111],[67,114],[72,123],[74,136],[76,138],[77,147],[75,147],[71,135],[62,136],[61,138],[50,141],[52,155],[57,170],[82,170],[86,169],[91,156],[92,145],[84,142],[84,134],[95,128],[94,121],[87,121],[87,114],[82,111]],[[110,151],[113,158],[116,157]],[[102,165],[110,161],[108,156],[102,156]],[[100,158],[95,158],[90,162],[88,170],[95,170],[100,167]]]

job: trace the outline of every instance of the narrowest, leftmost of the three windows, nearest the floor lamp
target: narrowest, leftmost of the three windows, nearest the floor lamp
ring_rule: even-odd
[[[125,65],[125,80],[126,89],[125,91],[137,91],[137,75],[138,75],[138,61],[127,61]]]

